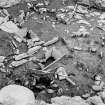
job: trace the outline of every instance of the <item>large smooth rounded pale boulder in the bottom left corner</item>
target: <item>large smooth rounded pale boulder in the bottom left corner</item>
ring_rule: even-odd
[[[0,90],[2,105],[35,105],[34,93],[20,85],[8,85]]]

